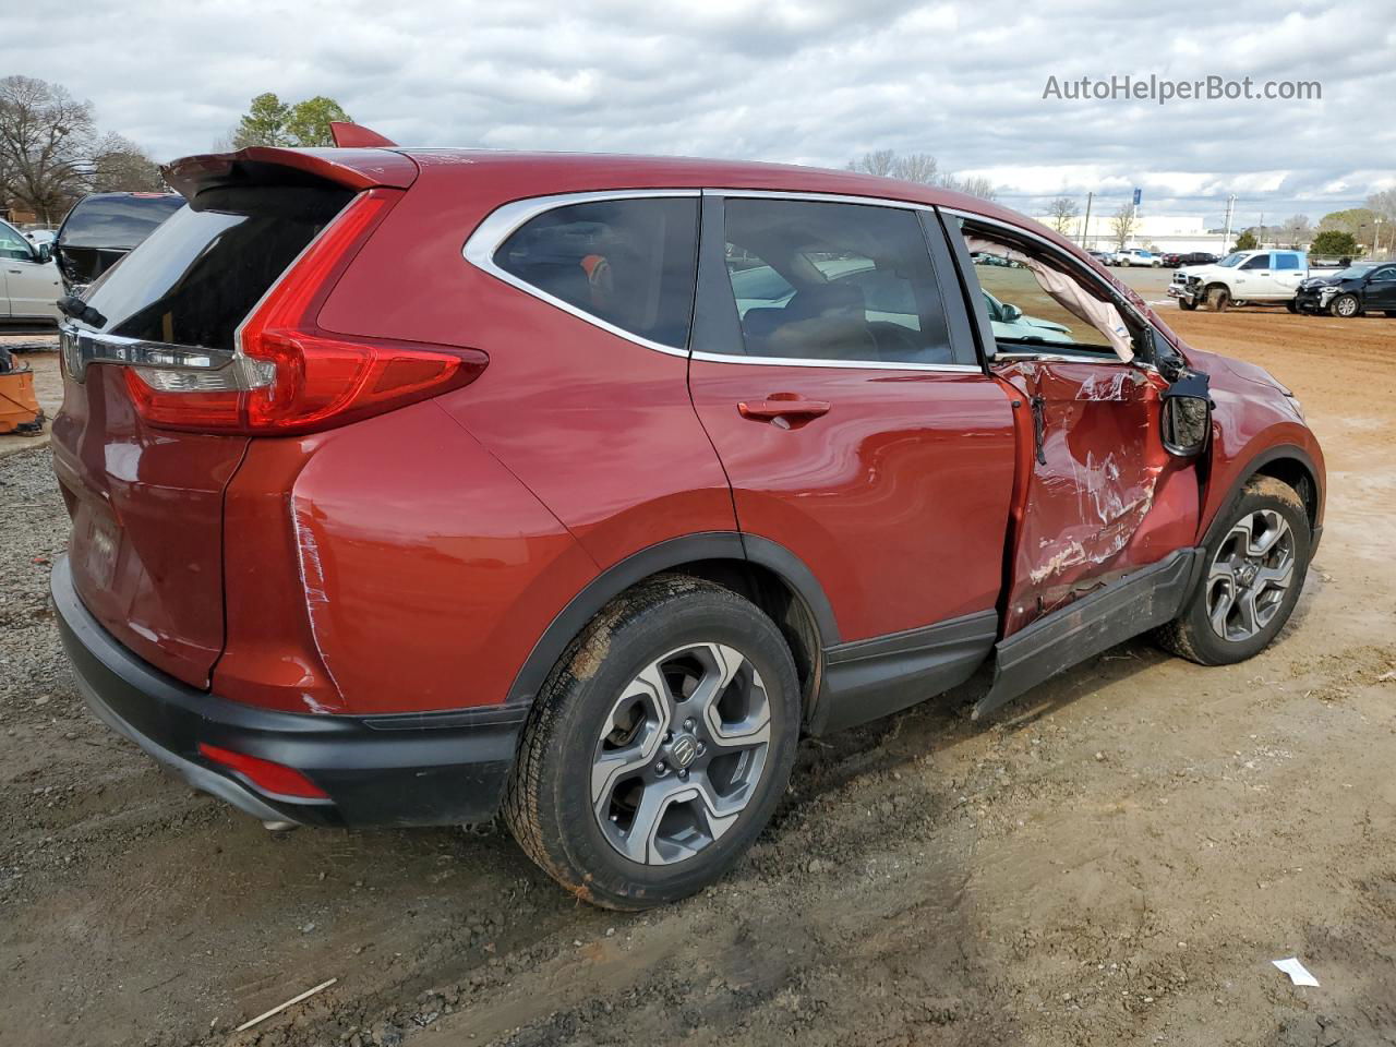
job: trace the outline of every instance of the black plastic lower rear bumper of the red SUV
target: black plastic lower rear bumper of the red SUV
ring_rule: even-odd
[[[195,789],[254,818],[304,825],[451,825],[498,810],[526,708],[339,716],[230,702],[113,639],[78,599],[67,557],[50,585],[63,646],[92,711]],[[264,793],[204,759],[200,743],[295,768],[329,799]]]

